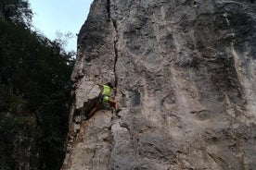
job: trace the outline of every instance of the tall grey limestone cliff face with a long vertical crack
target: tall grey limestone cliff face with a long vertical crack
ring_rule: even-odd
[[[255,32],[254,0],[95,0],[62,169],[255,169]],[[84,120],[107,81],[122,111]]]

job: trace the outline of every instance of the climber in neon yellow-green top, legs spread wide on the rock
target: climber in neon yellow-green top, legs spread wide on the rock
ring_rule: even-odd
[[[101,92],[98,95],[98,103],[96,103],[96,107],[90,112],[89,115],[86,117],[89,118],[92,115],[96,113],[96,111],[101,107],[102,104],[109,103],[110,106],[114,107],[116,112],[118,113],[121,109],[119,108],[119,103],[115,101],[114,99],[110,99],[110,95],[112,91],[117,91],[116,88],[114,88],[113,84],[111,82],[108,82],[104,85],[102,84],[96,84],[101,88]]]

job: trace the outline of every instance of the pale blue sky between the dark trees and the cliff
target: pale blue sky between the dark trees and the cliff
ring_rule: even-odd
[[[66,46],[76,51],[76,33],[81,29],[93,0],[29,0],[34,13],[32,24],[50,40],[56,32],[72,32],[74,38]]]

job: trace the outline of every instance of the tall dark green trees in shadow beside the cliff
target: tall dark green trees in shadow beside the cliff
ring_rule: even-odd
[[[15,151],[4,144],[11,138],[3,134],[22,129],[32,136],[35,117],[40,131],[31,138],[38,138],[38,169],[59,169],[68,131],[73,54],[63,50],[60,39],[51,42],[30,30],[27,1],[1,0],[1,14],[0,165],[17,169],[15,160],[5,157]]]

